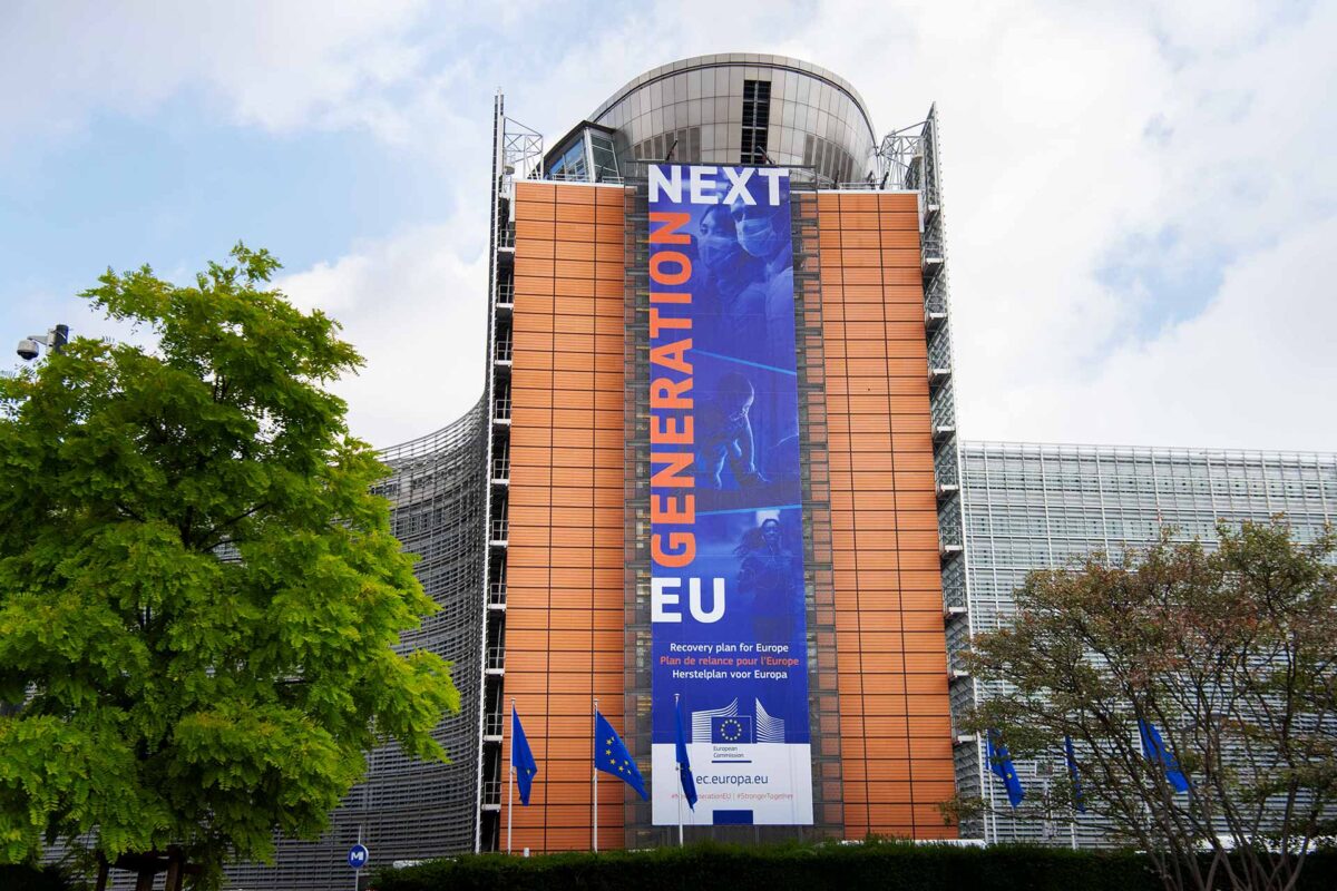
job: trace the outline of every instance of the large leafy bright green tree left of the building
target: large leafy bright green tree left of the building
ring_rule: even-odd
[[[205,887],[318,835],[372,747],[447,760],[449,665],[392,649],[436,606],[322,389],[361,357],[278,266],[108,270],[82,297],[156,345],[0,381],[0,862],[171,846]]]

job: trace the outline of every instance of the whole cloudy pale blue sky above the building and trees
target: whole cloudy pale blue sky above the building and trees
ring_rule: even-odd
[[[964,438],[1334,452],[1334,44],[1337,0],[7,0],[0,334],[120,335],[78,298],[107,267],[241,239],[366,358],[353,433],[431,433],[483,387],[497,90],[555,139],[781,53],[880,132],[937,103]]]

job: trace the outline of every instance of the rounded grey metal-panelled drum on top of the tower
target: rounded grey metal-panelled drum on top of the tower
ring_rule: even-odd
[[[616,131],[619,166],[659,160],[810,167],[824,183],[865,182],[876,134],[842,77],[785,56],[722,53],[660,65],[590,120]]]

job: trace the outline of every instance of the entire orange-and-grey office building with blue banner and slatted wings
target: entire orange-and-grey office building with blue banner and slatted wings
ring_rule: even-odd
[[[493,122],[485,385],[388,449],[381,488],[441,605],[404,647],[455,663],[452,763],[374,752],[324,839],[234,884],[333,887],[358,839],[385,864],[648,847],[679,823],[1098,844],[1074,815],[944,823],[955,795],[1005,800],[955,721],[997,691],[957,655],[1027,572],[1162,524],[1210,541],[1285,513],[1313,534],[1337,456],[960,439],[935,110],[888,132],[837,73],[730,53],[652,68],[564,134],[500,95]],[[595,709],[646,800],[596,781]]]

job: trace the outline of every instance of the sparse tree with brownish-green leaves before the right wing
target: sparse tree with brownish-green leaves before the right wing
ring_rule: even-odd
[[[1169,888],[1292,888],[1337,832],[1337,541],[1300,544],[1280,520],[1218,534],[1209,550],[1165,530],[1146,553],[1032,573],[1015,621],[973,640],[995,695],[972,729],[1062,777],[1023,818],[1067,814],[1079,793]]]

